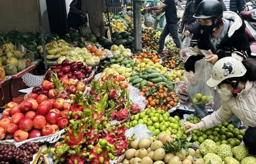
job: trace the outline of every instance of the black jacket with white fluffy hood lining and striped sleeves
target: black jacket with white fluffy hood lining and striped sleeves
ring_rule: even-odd
[[[224,36],[216,50],[215,54],[218,56],[218,60],[223,57],[231,56],[240,58],[241,60],[251,57],[251,50],[248,38],[245,34],[245,23],[243,19],[238,14],[231,11],[223,12],[223,18],[232,20],[234,23],[230,26],[229,32]],[[206,46],[198,44],[197,32],[200,32],[199,28],[190,42],[187,53],[188,58],[184,64],[186,71],[195,72],[195,62],[205,56],[213,54],[207,44],[205,44]],[[198,47],[201,47],[201,49]]]

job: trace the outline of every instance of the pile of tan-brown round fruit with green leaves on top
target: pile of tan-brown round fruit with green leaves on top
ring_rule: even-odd
[[[191,145],[186,139],[174,140],[161,133],[157,139],[132,141],[120,164],[192,164],[195,150]]]

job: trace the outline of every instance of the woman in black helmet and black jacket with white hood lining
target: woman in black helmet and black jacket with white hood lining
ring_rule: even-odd
[[[250,57],[245,24],[238,14],[231,11],[223,13],[218,0],[203,0],[194,17],[198,19],[199,27],[191,39],[184,63],[184,68],[191,76],[195,72],[195,62],[203,57],[211,64],[223,57],[232,56],[240,60]],[[195,116],[202,118],[208,114],[205,104],[193,105]]]

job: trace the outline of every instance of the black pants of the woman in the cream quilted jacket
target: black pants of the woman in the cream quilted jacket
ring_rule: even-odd
[[[248,148],[249,154],[256,155],[256,127],[249,127],[245,131],[243,143]]]

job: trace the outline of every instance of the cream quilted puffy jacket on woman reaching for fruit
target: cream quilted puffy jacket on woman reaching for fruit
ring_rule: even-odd
[[[221,95],[223,96],[223,95]],[[226,99],[227,101],[223,101]],[[228,121],[234,114],[246,125],[256,127],[256,82],[247,81],[237,97],[222,97],[222,106],[197,124],[200,130]]]

